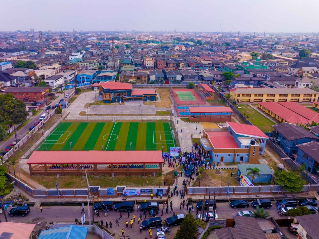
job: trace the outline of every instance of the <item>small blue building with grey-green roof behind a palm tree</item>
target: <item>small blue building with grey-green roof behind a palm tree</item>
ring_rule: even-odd
[[[267,164],[239,164],[238,166],[238,176],[241,174],[245,175],[250,181],[254,182],[270,182],[271,181],[271,176],[274,174],[274,171],[267,165]],[[248,168],[258,168],[260,170],[260,177],[256,175],[256,178],[252,178],[253,175],[249,173]]]

